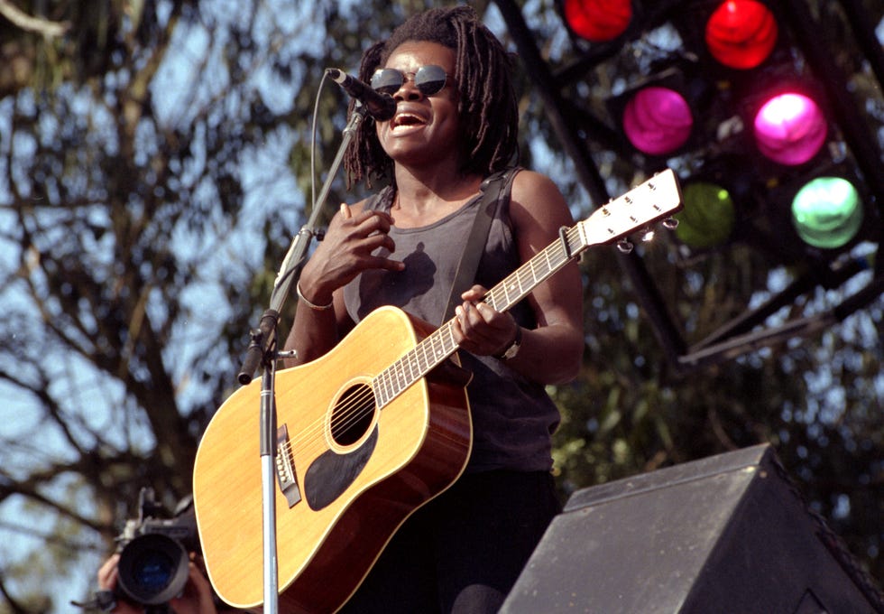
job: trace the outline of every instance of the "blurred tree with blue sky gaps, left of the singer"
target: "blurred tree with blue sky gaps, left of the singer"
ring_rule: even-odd
[[[170,508],[189,493],[303,221],[322,62],[351,66],[364,44],[324,33],[367,21],[324,3],[41,6],[4,3],[36,29],[0,22],[16,67],[0,84],[12,611],[65,609],[52,577],[80,578],[65,596],[82,598],[74,571],[91,583],[140,488]],[[329,147],[343,101],[320,99]]]

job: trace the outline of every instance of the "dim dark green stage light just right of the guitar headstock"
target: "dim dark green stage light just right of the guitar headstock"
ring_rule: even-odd
[[[682,187],[685,207],[678,212],[676,237],[688,247],[718,247],[733,232],[736,210],[730,191],[712,181],[694,181]]]

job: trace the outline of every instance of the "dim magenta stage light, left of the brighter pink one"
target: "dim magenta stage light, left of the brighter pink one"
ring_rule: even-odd
[[[677,91],[642,88],[623,109],[623,131],[631,144],[649,155],[670,154],[686,143],[694,116]]]

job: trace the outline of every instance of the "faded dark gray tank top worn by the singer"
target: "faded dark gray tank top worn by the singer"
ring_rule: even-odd
[[[366,208],[389,211],[393,195],[391,188],[385,188],[369,200]],[[396,244],[393,257],[405,263],[405,270],[366,271],[347,284],[344,297],[350,317],[358,322],[382,305],[394,305],[439,325],[480,200],[477,195],[461,209],[426,227],[391,228],[390,237]],[[486,288],[520,264],[511,233],[509,204],[509,194],[498,199],[476,273],[476,283]],[[520,325],[536,326],[528,302],[514,305],[511,313]],[[467,471],[549,470],[551,435],[559,414],[544,386],[520,376],[497,358],[465,351],[459,355],[463,367],[473,373],[466,388],[474,427]]]

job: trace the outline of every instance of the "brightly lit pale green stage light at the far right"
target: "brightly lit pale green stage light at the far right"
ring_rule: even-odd
[[[817,177],[792,200],[792,222],[807,245],[821,249],[844,247],[862,226],[860,194],[841,177]]]

